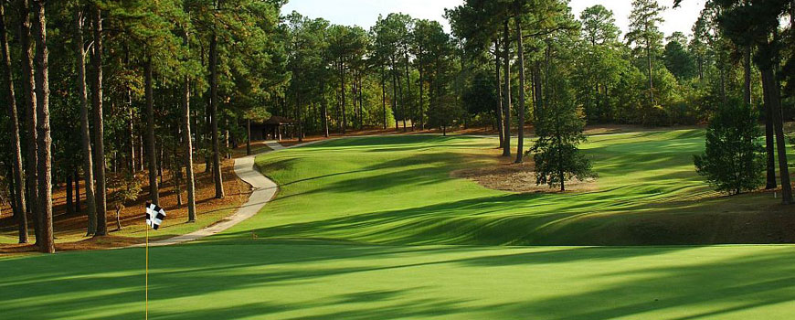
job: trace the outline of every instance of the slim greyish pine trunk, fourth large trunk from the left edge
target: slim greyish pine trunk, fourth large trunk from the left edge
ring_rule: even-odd
[[[89,131],[89,98],[86,90],[86,52],[83,48],[83,14],[80,9],[74,13],[74,46],[75,69],[77,69],[78,97],[80,98],[80,152],[83,157],[83,177],[86,181],[86,202],[88,203],[86,215],[88,225],[86,235],[90,236],[97,231],[97,204],[94,198],[94,169],[91,152],[91,135]]]

